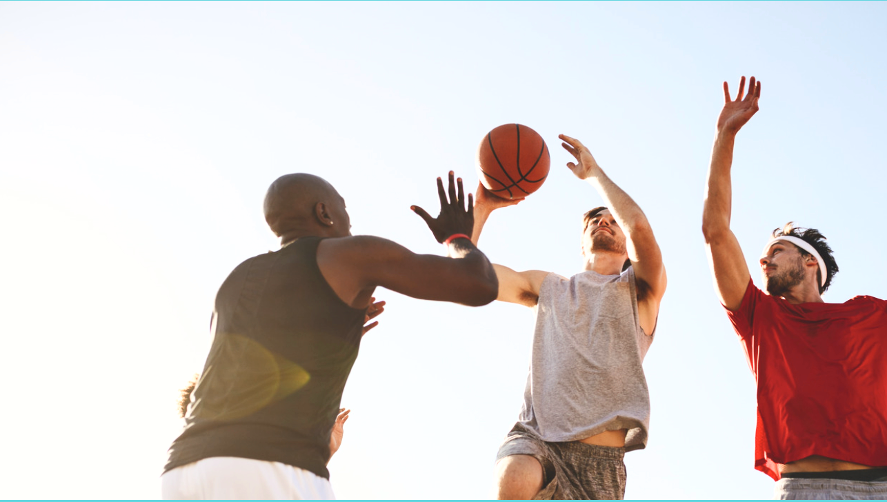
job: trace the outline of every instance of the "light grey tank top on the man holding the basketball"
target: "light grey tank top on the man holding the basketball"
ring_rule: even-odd
[[[625,450],[644,448],[650,396],[641,362],[652,342],[640,329],[632,267],[613,276],[548,274],[520,422],[551,442],[625,428]]]

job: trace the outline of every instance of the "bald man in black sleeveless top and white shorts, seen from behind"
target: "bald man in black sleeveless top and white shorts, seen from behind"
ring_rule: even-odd
[[[324,179],[280,177],[265,220],[280,249],[249,258],[216,294],[213,343],[161,476],[163,498],[334,498],[326,462],[345,381],[376,286],[480,306],[496,272],[469,237],[462,180],[437,178],[440,216],[412,207],[447,256],[351,236],[345,200]]]

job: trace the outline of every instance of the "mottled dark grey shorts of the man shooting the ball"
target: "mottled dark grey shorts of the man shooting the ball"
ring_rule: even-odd
[[[499,446],[496,461],[509,455],[530,455],[542,464],[538,500],[621,500],[625,496],[624,448],[578,441],[551,443],[518,423]]]

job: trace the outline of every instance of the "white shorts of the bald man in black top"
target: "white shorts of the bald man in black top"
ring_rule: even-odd
[[[280,462],[210,457],[161,475],[161,494],[181,498],[334,499],[333,485],[310,471]]]

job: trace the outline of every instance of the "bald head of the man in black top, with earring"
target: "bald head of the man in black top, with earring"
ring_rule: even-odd
[[[324,178],[306,173],[280,176],[268,187],[265,221],[286,243],[305,235],[349,235],[345,201]],[[336,221],[338,220],[338,221]]]

